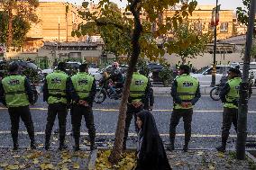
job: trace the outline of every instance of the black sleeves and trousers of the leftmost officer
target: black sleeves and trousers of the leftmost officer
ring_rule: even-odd
[[[27,78],[24,80],[25,92],[28,96],[29,103],[33,104],[33,95],[32,95],[32,87]],[[2,82],[0,83],[0,102],[6,105],[5,103],[5,90]],[[20,118],[25,124],[29,137],[31,139],[31,148],[35,148],[35,139],[34,139],[34,127],[32,122],[32,115],[30,112],[29,105],[19,106],[19,107],[9,107],[8,112],[11,119],[11,133],[14,142],[14,149],[19,147],[18,145],[18,130],[19,130],[19,122]]]

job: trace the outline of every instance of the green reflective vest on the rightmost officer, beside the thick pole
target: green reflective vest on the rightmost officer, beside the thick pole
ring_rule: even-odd
[[[224,103],[224,107],[235,109],[238,108],[239,88],[241,83],[242,79],[240,77],[234,77],[233,79],[227,81],[227,84],[230,86],[230,91],[225,96],[226,103]]]

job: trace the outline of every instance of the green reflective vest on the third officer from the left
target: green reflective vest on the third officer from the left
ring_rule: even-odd
[[[71,76],[71,80],[80,99],[89,96],[94,82],[94,76],[80,72],[77,75]]]

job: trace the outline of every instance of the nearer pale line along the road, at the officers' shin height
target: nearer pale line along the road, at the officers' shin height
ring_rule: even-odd
[[[5,135],[5,134],[11,134],[11,131],[9,130],[4,130],[0,131],[0,135]],[[27,131],[19,131],[19,134],[28,134]],[[35,135],[44,135],[44,131],[37,131],[35,132]],[[67,132],[67,135],[70,135],[71,132]],[[88,135],[87,132],[81,132],[80,133],[82,136]],[[96,133],[96,136],[114,136],[114,133]],[[137,137],[137,133],[129,133],[130,137]],[[169,137],[169,133],[161,133],[161,137]],[[178,137],[185,137],[185,134],[176,134]],[[216,135],[216,134],[192,134],[191,135],[193,138],[221,138],[221,135]],[[230,137],[236,137],[236,135],[230,135]],[[248,138],[254,138],[256,139],[256,135],[248,135]]]

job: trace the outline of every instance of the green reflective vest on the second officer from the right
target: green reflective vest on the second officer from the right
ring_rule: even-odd
[[[176,78],[176,81],[177,81],[178,97],[183,102],[191,102],[191,100],[195,97],[195,94],[197,92],[197,87],[199,85],[197,78],[187,74],[183,74],[181,76],[178,76]],[[174,104],[174,109],[191,109],[191,108],[193,108],[192,105],[191,107],[184,108],[178,103]]]

